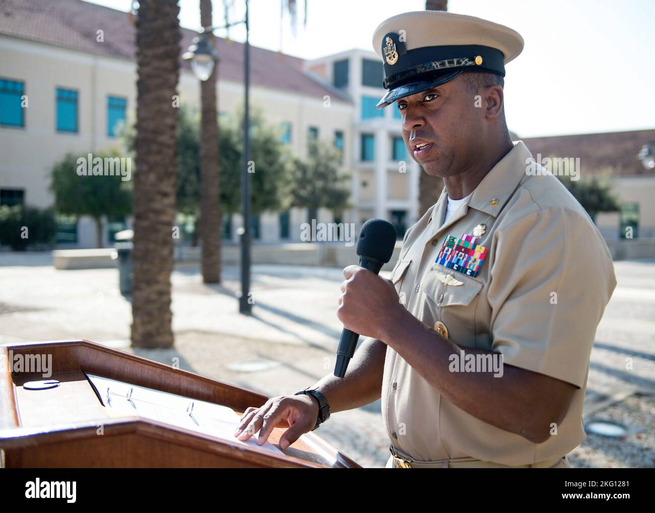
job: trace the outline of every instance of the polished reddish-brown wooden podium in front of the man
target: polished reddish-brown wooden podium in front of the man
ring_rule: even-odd
[[[12,360],[10,360],[10,355]],[[16,358],[16,355],[18,358]],[[52,355],[52,375],[16,370],[14,360]],[[283,455],[144,419],[113,417],[84,375],[92,373],[237,413],[267,397],[86,340],[0,346],[0,449],[6,467],[295,467],[356,468],[357,463],[314,433]],[[56,379],[58,387],[30,390],[28,381]],[[286,426],[286,425],[285,425]],[[101,429],[102,427],[102,429]],[[99,434],[102,431],[102,434]],[[269,441],[284,432],[274,428]]]

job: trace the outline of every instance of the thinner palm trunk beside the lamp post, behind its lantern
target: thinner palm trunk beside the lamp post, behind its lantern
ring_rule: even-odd
[[[200,24],[212,26],[212,0],[200,0]],[[214,45],[214,35],[207,37]],[[202,121],[200,133],[200,236],[202,237],[202,281],[221,281],[221,200],[218,172],[218,121],[216,115],[216,76],[200,82]]]

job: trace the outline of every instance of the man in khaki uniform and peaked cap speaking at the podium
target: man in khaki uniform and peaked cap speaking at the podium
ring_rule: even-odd
[[[388,93],[438,202],[403,239],[391,280],[347,267],[337,314],[367,338],[345,378],[250,408],[236,435],[286,419],[284,449],[329,412],[381,398],[388,467],[567,467],[584,440],[596,327],[616,286],[582,206],[512,143],[504,64],[512,29],[445,12],[377,28]]]

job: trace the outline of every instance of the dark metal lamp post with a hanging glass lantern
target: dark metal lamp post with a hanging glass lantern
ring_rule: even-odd
[[[228,28],[240,24],[246,25],[246,43],[244,45],[244,149],[243,164],[241,168],[241,212],[243,226],[237,233],[241,237],[241,295],[239,297],[239,312],[250,315],[250,174],[248,162],[250,161],[250,24],[248,22],[248,0],[246,0],[246,16],[240,22],[234,22],[219,27],[204,27],[198,37],[193,39],[189,50],[182,58],[191,60],[191,69],[198,80],[206,81],[214,69],[217,53],[210,45],[206,34],[220,28]]]

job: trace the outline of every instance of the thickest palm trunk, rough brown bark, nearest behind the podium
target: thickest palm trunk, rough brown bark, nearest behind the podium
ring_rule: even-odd
[[[138,67],[132,345],[172,347],[170,274],[176,198],[179,76],[177,0],[140,0],[136,18]]]

